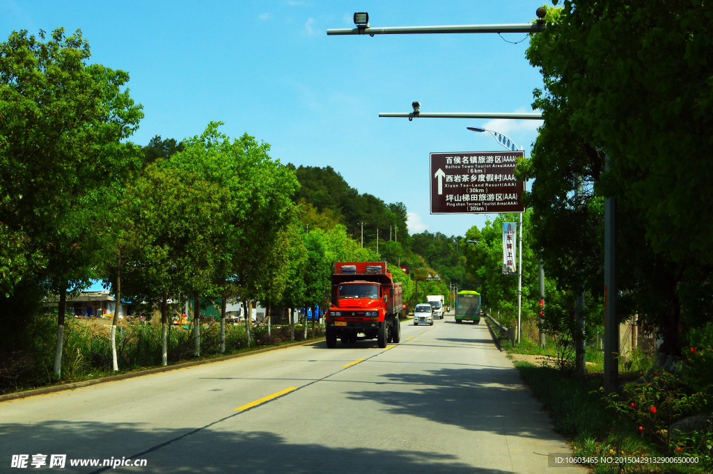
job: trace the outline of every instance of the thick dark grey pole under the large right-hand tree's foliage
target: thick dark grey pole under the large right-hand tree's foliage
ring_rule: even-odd
[[[609,170],[609,155],[606,168]],[[619,315],[617,306],[617,198],[604,201],[604,389],[616,391],[619,385]]]

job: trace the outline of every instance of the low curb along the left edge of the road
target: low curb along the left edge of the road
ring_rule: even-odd
[[[278,349],[287,349],[288,347],[304,346],[306,344],[312,344],[314,342],[324,341],[324,337],[318,339],[310,339],[309,341],[299,341],[291,344],[284,344],[284,346],[267,347],[265,349],[257,349],[250,352],[241,352],[240,354],[230,354],[230,356],[216,357],[215,359],[203,359],[202,361],[190,361],[182,362],[180,364],[175,364],[173,366],[156,367],[155,369],[146,369],[144,371],[136,371],[130,373],[120,373],[119,375],[112,375],[102,378],[94,378],[93,380],[84,380],[81,382],[65,383],[63,385],[56,385],[51,387],[36,388],[34,390],[28,390],[24,392],[16,393],[6,393],[5,395],[0,395],[0,402],[17,400],[18,398],[27,398],[29,396],[44,395],[45,393],[55,393],[65,390],[74,390],[75,388],[88,387],[92,385],[97,385],[98,383],[113,382],[118,380],[124,380],[125,378],[134,378],[145,375],[150,375],[152,373],[168,372],[178,369],[185,369],[186,367],[202,366],[203,364],[212,364],[213,362],[228,361],[230,359],[237,359],[239,357],[254,356],[255,354],[262,354],[263,352],[277,351]]]

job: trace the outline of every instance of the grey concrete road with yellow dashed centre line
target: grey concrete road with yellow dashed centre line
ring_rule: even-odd
[[[140,473],[544,473],[554,452],[563,438],[484,322],[452,316],[402,323],[387,349],[322,342],[0,403],[2,473],[37,453],[145,459],[116,468]]]

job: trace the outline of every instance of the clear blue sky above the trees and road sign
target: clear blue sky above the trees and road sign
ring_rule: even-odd
[[[359,192],[404,202],[409,230],[463,235],[482,215],[429,214],[429,153],[529,153],[539,121],[379,118],[409,112],[530,111],[541,76],[528,41],[493,34],[327,36],[352,27],[525,23],[541,1],[18,1],[0,0],[0,36],[81,29],[92,61],[130,73],[145,118],[133,136],[198,135],[222,120],[282,163],[331,165]],[[520,41],[524,34],[503,34]]]

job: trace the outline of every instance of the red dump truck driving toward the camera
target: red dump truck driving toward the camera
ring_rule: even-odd
[[[327,347],[376,339],[379,347],[401,339],[404,300],[386,262],[334,262],[332,302],[327,311]],[[359,336],[363,334],[363,336]]]

